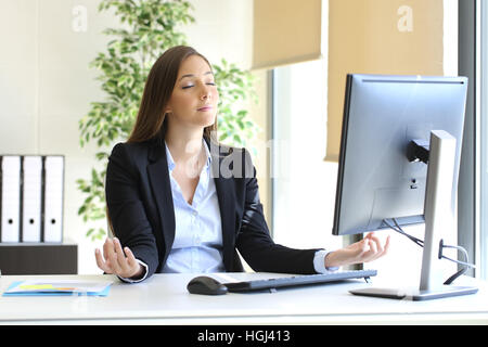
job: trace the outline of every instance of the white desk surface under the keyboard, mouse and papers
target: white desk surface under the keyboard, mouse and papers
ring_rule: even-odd
[[[266,273],[227,273],[234,279]],[[155,274],[139,284],[113,275],[2,275],[0,292],[28,279],[113,280],[107,297],[3,297],[0,324],[488,324],[488,287],[475,295],[429,301],[355,296],[349,290],[375,285],[362,280],[279,290],[275,293],[194,295],[187,283],[195,274]],[[213,274],[222,282],[219,274]],[[468,282],[472,279],[466,278]],[[466,284],[466,283],[459,283]],[[473,283],[470,283],[473,284]]]

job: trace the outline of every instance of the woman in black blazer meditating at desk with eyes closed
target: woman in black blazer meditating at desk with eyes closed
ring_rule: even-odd
[[[372,234],[346,248],[275,244],[245,150],[219,145],[219,94],[208,61],[190,47],[154,64],[133,131],[110,156],[106,203],[115,234],[95,259],[105,273],[140,282],[155,272],[317,273],[384,255]]]

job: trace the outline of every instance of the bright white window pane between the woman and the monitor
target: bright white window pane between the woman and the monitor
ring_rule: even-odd
[[[326,163],[326,61],[273,72],[272,226],[275,242],[334,249],[337,163]]]

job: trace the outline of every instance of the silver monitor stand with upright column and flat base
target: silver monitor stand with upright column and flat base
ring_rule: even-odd
[[[349,291],[355,295],[396,299],[429,300],[474,294],[473,286],[442,284],[440,241],[446,231],[453,230],[451,206],[454,178],[455,138],[444,130],[431,132],[431,146],[425,192],[425,240],[419,288],[361,288]]]

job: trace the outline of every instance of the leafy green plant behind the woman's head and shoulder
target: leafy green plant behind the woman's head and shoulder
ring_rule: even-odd
[[[78,209],[85,222],[105,219],[105,168],[112,145],[125,141],[136,120],[146,76],[156,59],[168,48],[185,44],[187,38],[179,28],[194,23],[192,5],[183,0],[103,0],[99,11],[115,10],[121,28],[103,33],[114,37],[106,52],[99,53],[90,66],[100,70],[98,80],[106,93],[104,101],[92,102],[91,110],[79,121],[80,145],[94,141],[100,152],[99,162],[90,178],[78,179],[78,189],[86,198]],[[220,93],[218,133],[219,141],[245,146],[258,131],[256,124],[242,110],[243,100],[256,94],[254,78],[224,59],[213,65]],[[87,236],[103,239],[105,228],[89,228]]]

